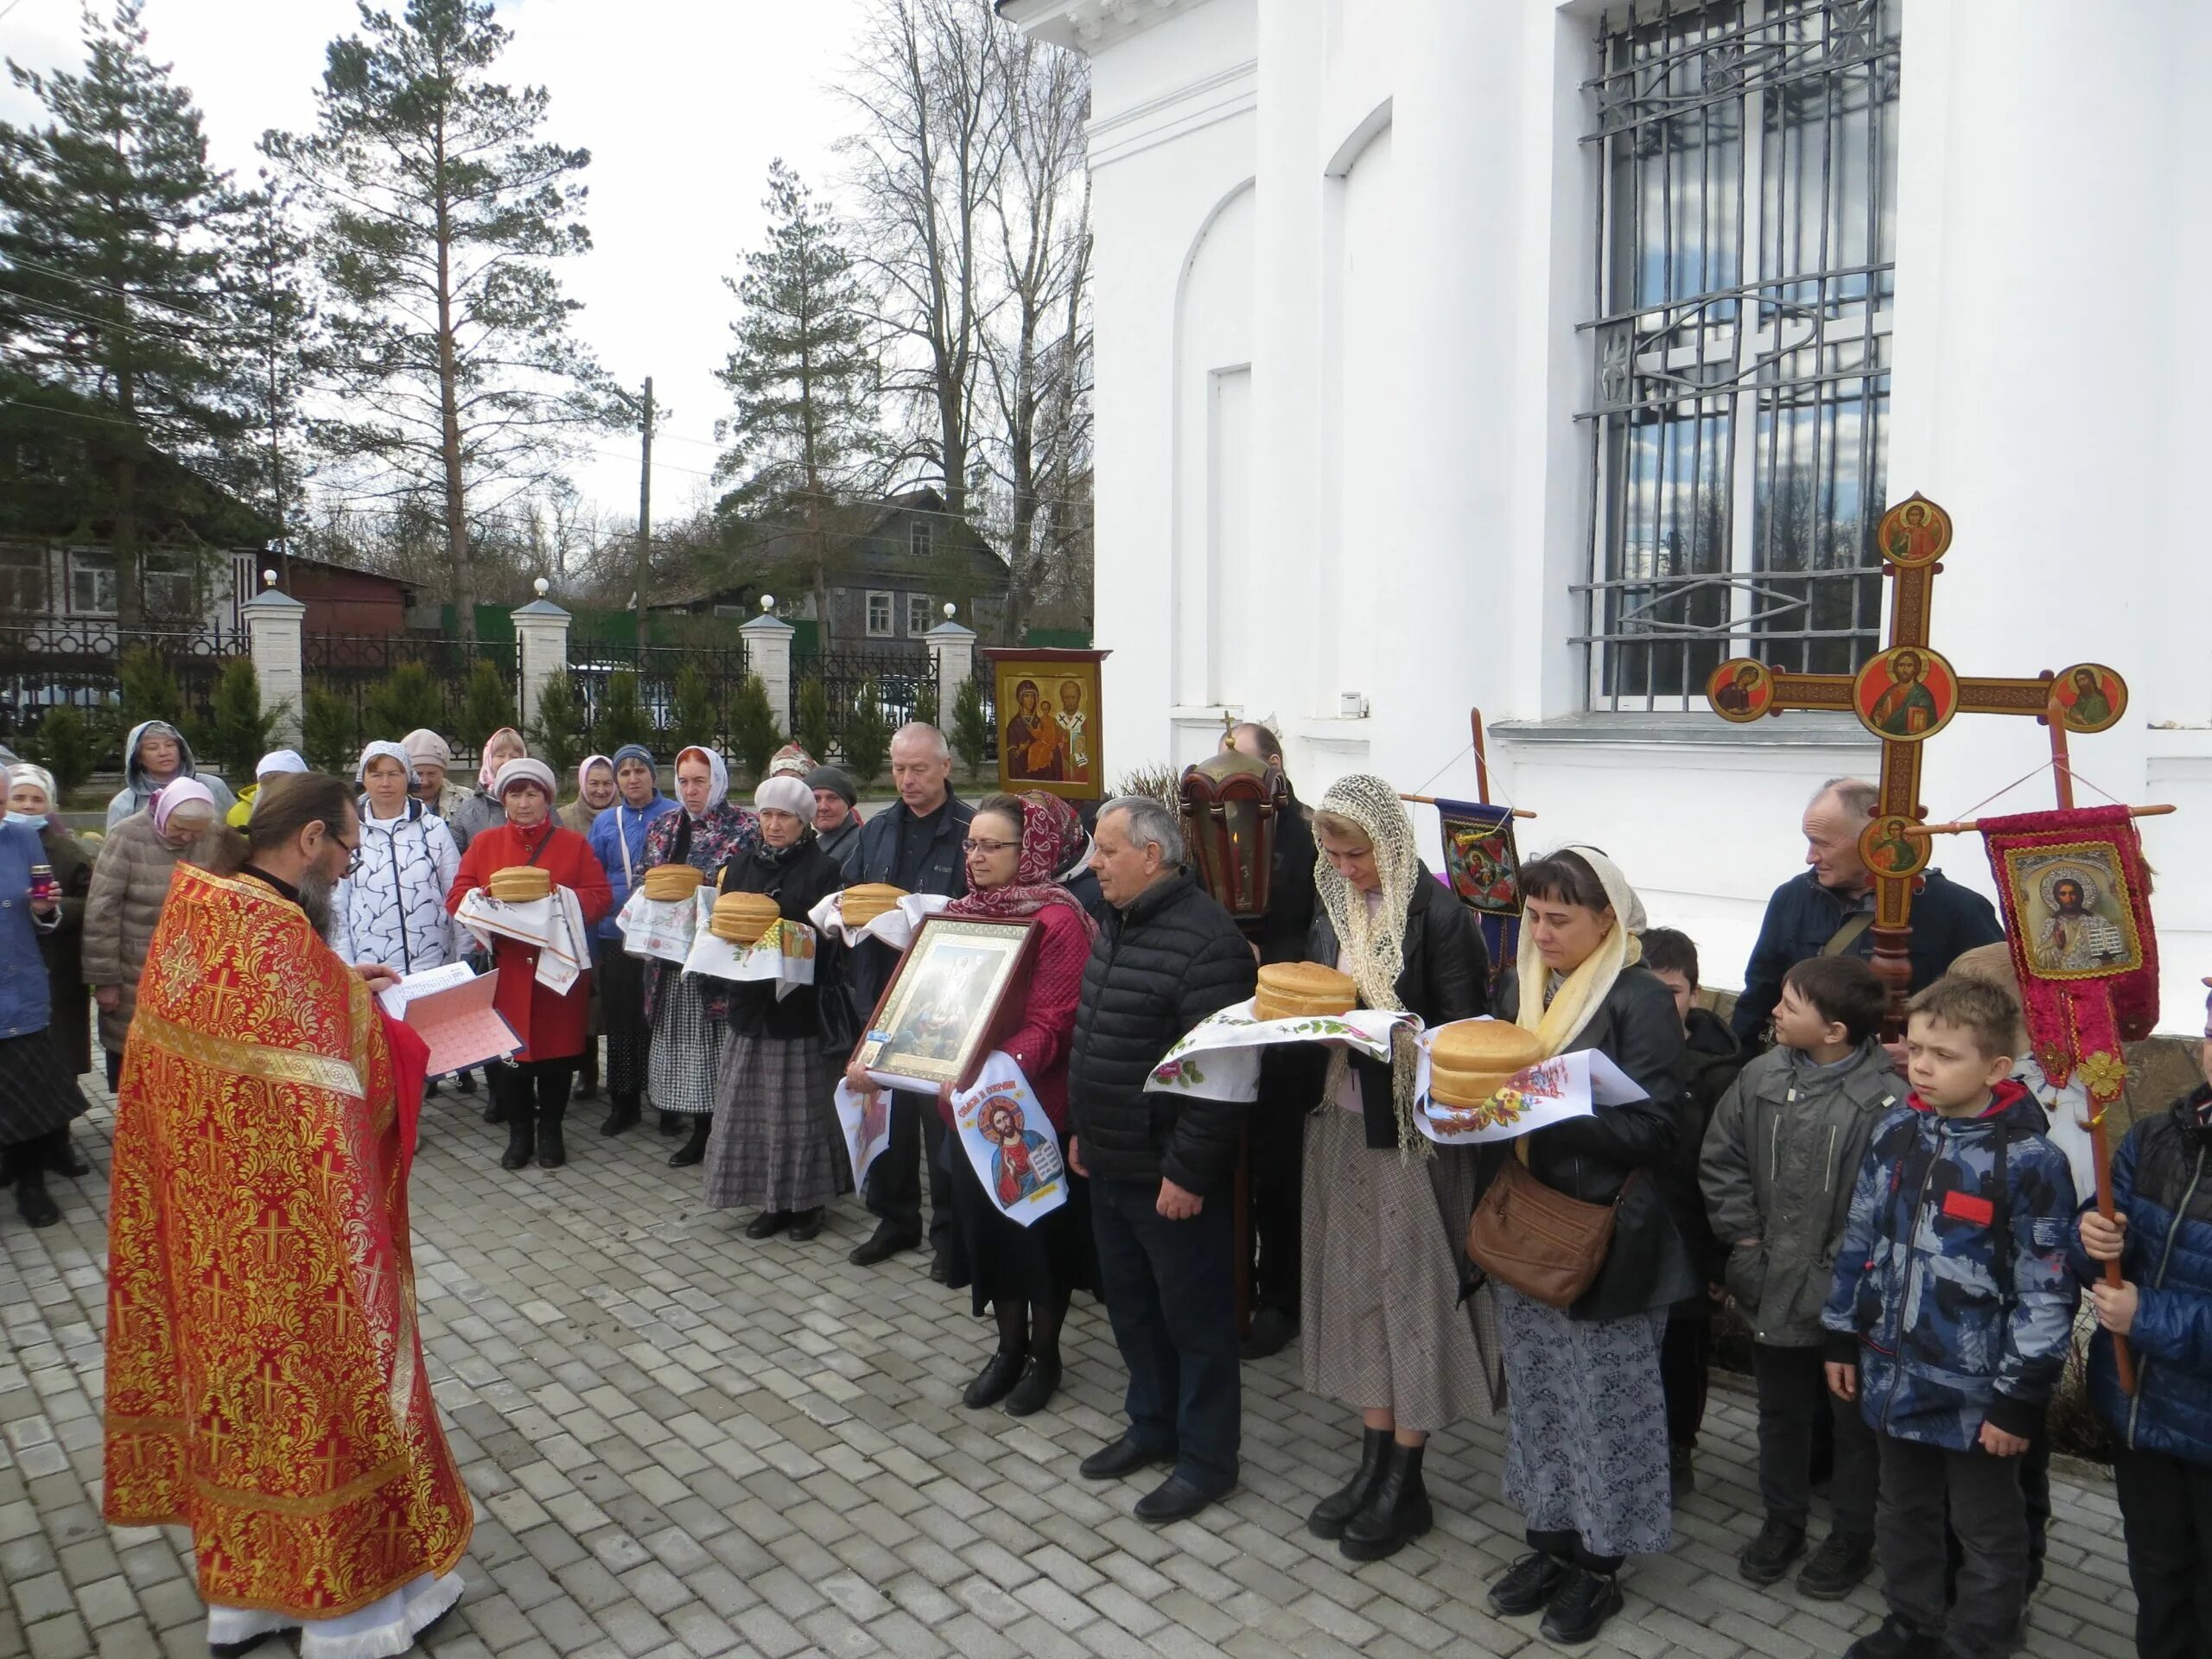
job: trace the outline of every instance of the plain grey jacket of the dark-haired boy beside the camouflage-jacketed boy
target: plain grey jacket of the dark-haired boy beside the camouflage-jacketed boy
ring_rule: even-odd
[[[1874,1128],[1900,1104],[1905,1079],[1871,1037],[1834,1068],[1798,1048],[1770,1048],[1721,1095],[1699,1186],[1728,1250],[1728,1292],[1754,1340],[1820,1347],[1820,1303],[1851,1183]]]

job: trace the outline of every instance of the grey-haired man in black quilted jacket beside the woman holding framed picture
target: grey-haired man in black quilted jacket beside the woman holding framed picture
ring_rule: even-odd
[[[1181,863],[1181,830],[1157,801],[1099,812],[1091,867],[1115,918],[1084,969],[1068,1051],[1068,1164],[1091,1177],[1099,1287],[1128,1365],[1128,1429],[1082,1473],[1172,1462],[1137,1500],[1146,1522],[1197,1515],[1237,1484],[1243,1409],[1230,1190],[1245,1108],[1144,1084],[1186,1031],[1252,995],[1256,967]]]

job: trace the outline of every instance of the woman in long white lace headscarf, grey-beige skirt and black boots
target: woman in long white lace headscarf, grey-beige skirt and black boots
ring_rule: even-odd
[[[1489,953],[1467,909],[1413,849],[1398,792],[1376,776],[1329,785],[1314,812],[1316,914],[1307,958],[1360,989],[1360,1006],[1425,1026],[1489,1009]],[[1356,1407],[1360,1464],[1307,1517],[1354,1562],[1429,1531],[1420,1478],[1429,1433],[1498,1405],[1489,1298],[1460,1301],[1480,1155],[1413,1126],[1411,1031],[1391,1060],[1329,1057],[1305,1126],[1305,1389]]]

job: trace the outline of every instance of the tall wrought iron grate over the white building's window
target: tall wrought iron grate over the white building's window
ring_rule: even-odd
[[[1878,650],[1900,0],[1599,24],[1588,697],[1694,708],[1732,655]]]

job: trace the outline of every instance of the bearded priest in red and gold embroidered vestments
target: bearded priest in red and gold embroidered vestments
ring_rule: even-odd
[[[190,1526],[217,1655],[383,1659],[462,1588],[407,1237],[427,1051],[321,938],[358,847],[310,772],[177,867],[117,1091],[106,1517]]]

